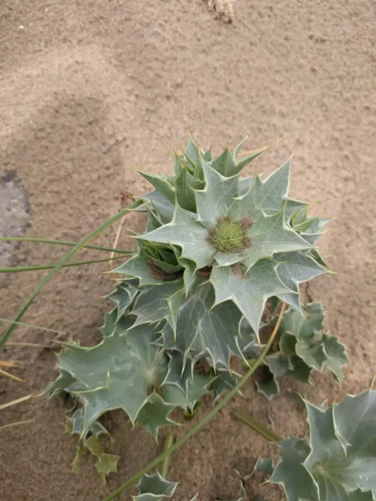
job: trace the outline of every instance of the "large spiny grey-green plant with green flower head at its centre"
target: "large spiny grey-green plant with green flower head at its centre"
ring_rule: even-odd
[[[48,390],[80,399],[85,430],[122,408],[157,437],[175,407],[192,413],[208,391],[220,397],[239,377],[231,356],[260,353],[266,301],[301,312],[299,284],[326,271],[315,243],[327,219],[309,218],[307,204],[288,196],[291,159],[265,180],[241,177],[263,151],[239,158],[242,144],[213,158],[190,139],[171,176],[141,173],[155,188],[141,197],[146,231],[114,270],[123,278],[103,339],[65,343]]]

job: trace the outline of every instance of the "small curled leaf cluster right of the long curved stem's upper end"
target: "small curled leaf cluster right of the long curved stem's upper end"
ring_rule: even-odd
[[[287,376],[308,382],[312,369],[328,369],[341,383],[342,367],[348,362],[345,346],[324,329],[324,312],[319,303],[310,303],[303,315],[289,308],[278,330],[279,352],[267,357],[268,372],[256,382],[268,399],[279,392],[277,378]]]

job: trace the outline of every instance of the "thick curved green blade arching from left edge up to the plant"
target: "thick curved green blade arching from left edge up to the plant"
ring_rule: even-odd
[[[42,280],[42,282],[37,286],[33,294],[30,296],[30,298],[27,300],[25,305],[22,307],[20,313],[17,315],[15,318],[16,322],[19,322],[22,317],[25,315],[27,312],[29,306],[33,303],[34,299],[38,296],[40,291],[43,289],[45,285],[47,285],[51,279],[54,278],[54,276],[60,272],[60,270],[63,268],[63,266],[78,253],[80,249],[82,249],[86,244],[90,242],[93,238],[95,238],[99,233],[101,233],[103,230],[108,228],[108,226],[111,226],[114,222],[118,221],[125,215],[127,215],[130,211],[137,209],[139,205],[142,205],[143,201],[142,200],[137,200],[129,207],[126,209],[121,210],[118,212],[116,215],[110,217],[110,219],[107,219],[103,224],[101,224],[98,228],[96,228],[93,232],[91,232],[88,236],[86,236],[83,240],[81,240],[77,245],[73,247],[72,250],[70,250],[69,253],[67,253],[60,261],[59,263],[46,275],[46,277]],[[9,338],[12,336],[13,331],[16,329],[17,324],[11,325],[11,327],[6,331],[6,333],[3,335],[2,339],[0,340],[0,350],[3,350],[5,345],[7,344],[7,341],[9,341]]]

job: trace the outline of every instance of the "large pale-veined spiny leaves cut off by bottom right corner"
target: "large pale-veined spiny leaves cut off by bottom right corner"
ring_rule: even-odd
[[[376,499],[376,391],[347,395],[323,409],[305,402],[309,440],[279,442],[280,459],[256,463],[283,485],[288,501]]]

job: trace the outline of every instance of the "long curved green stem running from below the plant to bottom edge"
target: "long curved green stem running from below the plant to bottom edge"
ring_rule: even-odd
[[[172,452],[177,450],[189,438],[191,438],[193,435],[195,435],[196,432],[198,432],[203,426],[205,426],[209,421],[211,421],[216,416],[216,414],[223,407],[225,407],[225,405],[227,405],[234,396],[236,396],[238,394],[240,388],[242,388],[245,385],[245,383],[248,381],[248,379],[255,373],[256,369],[260,366],[260,364],[264,360],[266,354],[268,353],[270,347],[272,346],[274,338],[275,338],[277,331],[279,329],[279,325],[281,323],[285,308],[286,308],[286,304],[283,304],[281,312],[280,312],[279,317],[278,317],[278,321],[277,321],[277,323],[273,329],[273,332],[269,338],[269,341],[266,344],[265,348],[263,349],[260,357],[255,361],[255,364],[253,365],[253,367],[251,367],[249,369],[249,371],[240,379],[240,381],[235,386],[235,388],[233,388],[224,397],[224,399],[221,402],[219,402],[215,407],[213,407],[213,409],[211,411],[209,411],[208,414],[206,416],[204,416],[201,421],[199,421],[197,424],[195,424],[195,426],[193,426],[190,430],[185,432],[184,435],[182,435],[173,445],[171,445],[171,447],[169,447],[167,450],[164,450],[159,456],[157,456],[155,459],[153,459],[153,461],[151,461],[147,466],[145,466],[144,468],[139,470],[135,475],[133,475],[131,478],[129,478],[129,480],[127,480],[122,485],[120,485],[120,487],[118,489],[111,492],[111,494],[108,497],[106,497],[105,499],[103,499],[102,501],[112,501],[112,499],[114,499],[119,494],[121,494],[121,492],[123,492],[123,490],[129,488],[131,485],[133,485],[135,482],[137,482],[137,480],[139,480],[142,475],[144,475],[145,473],[148,473],[155,466],[158,466],[158,464],[161,463],[165,457],[167,457]]]

